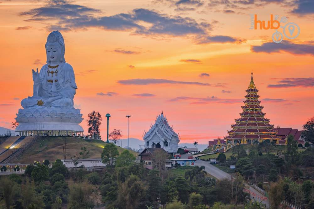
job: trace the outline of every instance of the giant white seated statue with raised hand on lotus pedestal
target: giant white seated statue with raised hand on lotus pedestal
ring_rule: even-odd
[[[38,69],[32,70],[33,96],[22,100],[15,131],[28,135],[40,129],[53,136],[83,132],[78,125],[82,114],[73,107],[75,75],[72,66],[65,62],[65,44],[59,31],[48,35],[45,48],[47,64],[39,73]]]

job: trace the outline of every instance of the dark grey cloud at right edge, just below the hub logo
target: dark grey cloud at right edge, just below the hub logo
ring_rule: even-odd
[[[310,43],[310,42],[309,42]],[[260,46],[251,46],[251,51],[253,52],[288,52],[294,55],[314,55],[314,45],[313,44],[294,44],[291,41],[282,41],[280,43],[275,43],[273,41],[263,43]]]

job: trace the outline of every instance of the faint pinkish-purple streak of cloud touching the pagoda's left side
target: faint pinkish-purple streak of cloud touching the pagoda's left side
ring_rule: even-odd
[[[199,98],[199,97],[176,97],[173,99],[167,100],[167,102],[178,102],[178,101],[192,101],[191,104],[207,104],[207,103],[225,103],[225,104],[234,104],[243,102],[243,99],[223,99],[215,96]]]

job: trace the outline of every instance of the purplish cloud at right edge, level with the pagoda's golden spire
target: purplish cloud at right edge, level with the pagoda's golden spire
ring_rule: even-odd
[[[289,87],[313,87],[314,77],[310,78],[284,78],[278,84],[269,84],[268,88],[289,88]]]

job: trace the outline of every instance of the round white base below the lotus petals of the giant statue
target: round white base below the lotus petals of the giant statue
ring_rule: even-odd
[[[15,129],[21,136],[47,135],[47,136],[73,136],[83,133],[83,128],[78,123],[69,122],[35,122],[19,123]]]

